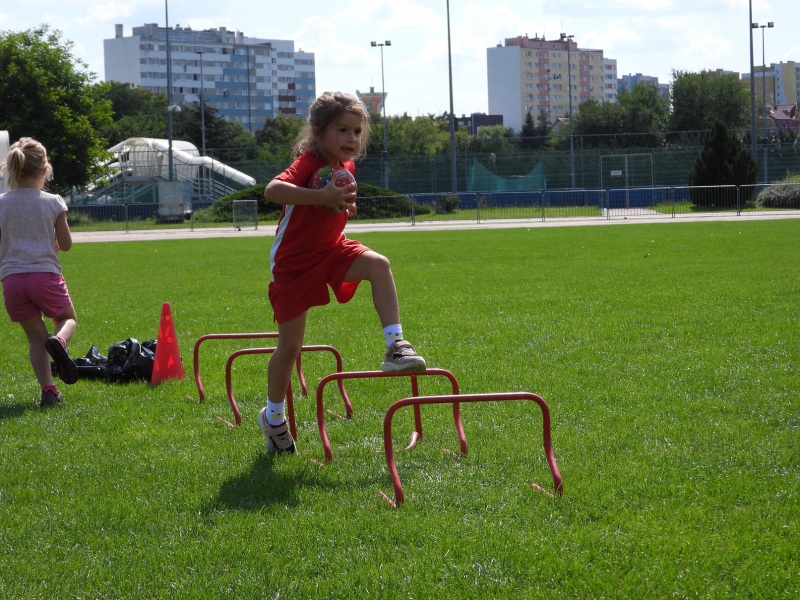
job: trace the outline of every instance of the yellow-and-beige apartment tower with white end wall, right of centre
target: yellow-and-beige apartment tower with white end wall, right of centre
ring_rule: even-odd
[[[571,38],[546,40],[526,35],[487,48],[489,113],[522,129],[527,113],[544,112],[553,123],[587,100],[616,102],[616,61],[602,50],[578,48]],[[613,75],[613,77],[612,77]]]

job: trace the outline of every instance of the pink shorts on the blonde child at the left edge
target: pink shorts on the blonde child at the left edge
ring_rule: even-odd
[[[54,319],[72,305],[64,277],[56,273],[15,273],[3,279],[3,300],[11,321],[42,314]]]

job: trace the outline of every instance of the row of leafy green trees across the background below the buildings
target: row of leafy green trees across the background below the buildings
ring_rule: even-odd
[[[73,44],[48,25],[24,32],[0,32],[0,129],[12,140],[32,136],[47,146],[54,166],[54,188],[83,186],[104,174],[112,159],[107,149],[130,137],[167,137],[167,100],[130,84],[98,82],[73,55]],[[647,83],[623,91],[618,101],[581,104],[573,135],[586,147],[659,147],[684,143],[683,132],[711,130],[721,121],[729,130],[745,129],[749,96],[735,75],[673,71],[671,94]],[[303,120],[278,115],[249,131],[199,105],[183,106],[173,115],[174,139],[213,150],[223,161],[245,156],[288,160]],[[566,117],[567,115],[564,115]],[[201,123],[204,121],[204,135]],[[472,136],[456,132],[459,148],[474,154],[515,153],[569,147],[568,120],[558,126],[545,114],[526,115],[520,131],[501,125],[483,127]],[[370,155],[383,149],[383,121],[372,116]],[[430,113],[386,120],[393,156],[447,155],[449,114]],[[679,132],[679,133],[674,133]]]

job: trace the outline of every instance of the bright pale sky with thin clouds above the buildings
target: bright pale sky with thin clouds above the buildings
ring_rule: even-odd
[[[752,0],[754,63],[800,62],[793,0]],[[618,76],[642,73],[672,80],[673,70],[750,70],[748,0],[450,0],[453,112],[489,109],[486,51],[518,35],[574,36],[579,48],[602,49],[617,60]],[[297,8],[302,10],[297,10]],[[450,111],[447,0],[8,0],[0,32],[42,23],[71,41],[73,55],[104,79],[103,40],[145,23],[210,29],[247,37],[293,40],[314,52],[317,93],[384,89],[387,115]],[[372,47],[371,42],[391,46]],[[383,75],[383,77],[382,77]],[[383,79],[383,81],[382,81]]]

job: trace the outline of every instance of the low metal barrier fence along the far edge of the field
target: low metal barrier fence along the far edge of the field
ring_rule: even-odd
[[[259,225],[273,226],[275,219],[262,220],[259,215],[250,212],[254,204],[255,201],[243,203],[249,208],[246,227],[258,229]],[[191,203],[185,219],[179,223],[162,223],[158,218],[157,203],[75,205],[70,207],[69,220],[73,231],[242,229],[243,223],[234,221],[233,217],[223,222],[203,220],[203,213],[198,211],[209,205]],[[353,223],[401,225],[447,221],[613,220],[697,215],[736,217],[751,213],[788,215],[800,212],[800,184],[414,194],[358,198],[356,205],[358,214],[351,219]]]

